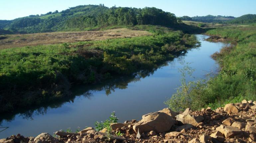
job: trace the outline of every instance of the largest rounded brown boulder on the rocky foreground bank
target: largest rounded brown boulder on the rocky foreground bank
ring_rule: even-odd
[[[155,112],[142,116],[142,120],[133,125],[137,133],[138,128],[143,132],[155,131],[157,133],[167,132],[174,125],[175,119],[163,112]]]

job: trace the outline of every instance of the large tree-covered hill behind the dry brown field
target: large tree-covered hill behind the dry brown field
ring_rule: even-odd
[[[62,12],[30,15],[11,21],[0,20],[0,30],[9,30],[14,33],[37,33],[137,24],[171,26],[176,23],[177,18],[174,14],[161,9],[108,8],[100,4],[76,6]]]

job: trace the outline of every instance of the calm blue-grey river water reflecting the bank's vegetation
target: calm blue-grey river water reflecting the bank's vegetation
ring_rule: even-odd
[[[166,108],[164,104],[180,85],[183,68],[180,62],[190,62],[196,78],[204,78],[208,72],[216,73],[218,64],[210,55],[227,44],[207,42],[206,35],[196,35],[201,46],[189,50],[184,56],[167,62],[154,72],[146,72],[132,77],[115,80],[94,86],[78,86],[73,89],[76,95],[69,102],[47,105],[38,109],[24,111],[2,117],[0,127],[9,127],[0,132],[0,139],[12,134],[37,136],[42,132],[53,132],[67,128],[75,131],[79,126],[94,127],[95,121],[108,119],[112,111],[116,112],[119,122],[141,119],[142,115]],[[2,128],[0,128],[1,131]]]

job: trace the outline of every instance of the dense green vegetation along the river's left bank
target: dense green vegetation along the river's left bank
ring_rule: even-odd
[[[70,83],[156,68],[197,44],[196,37],[156,26],[152,36],[0,50],[0,112],[69,96]]]

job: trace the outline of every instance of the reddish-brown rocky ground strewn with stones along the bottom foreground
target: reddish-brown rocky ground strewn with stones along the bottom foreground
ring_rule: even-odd
[[[0,143],[256,143],[256,101],[227,104],[211,110],[191,111],[177,114],[166,108],[142,116],[140,121],[112,123],[112,134],[106,129],[96,132],[88,127],[79,133],[56,132],[59,138],[42,133],[36,138],[20,134],[1,139]],[[123,136],[116,136],[120,131]]]

